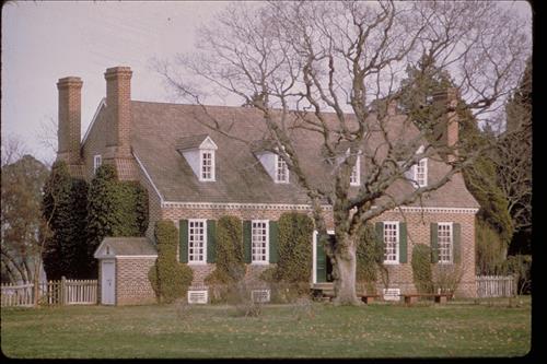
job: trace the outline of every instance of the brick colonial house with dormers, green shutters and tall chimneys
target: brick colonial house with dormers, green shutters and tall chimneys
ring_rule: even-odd
[[[123,258],[112,256],[104,260],[108,243],[103,242],[96,257],[100,283],[103,266],[116,286],[130,285],[131,293],[118,289],[115,304],[146,302],[152,298],[150,283],[142,271],[151,266],[153,226],[160,219],[175,222],[181,231],[179,260],[194,270],[194,286],[202,286],[203,279],[214,267],[213,242],[210,231],[214,221],[225,214],[236,215],[244,222],[244,235],[249,235],[249,262],[246,279],[260,284],[258,274],[275,263],[276,222],[288,211],[310,213],[306,195],[296,185],[283,161],[263,148],[264,126],[257,110],[247,107],[207,106],[207,113],[197,105],[166,104],[132,101],[128,67],[109,68],[105,72],[106,97],[85,132],[80,136],[81,87],[80,78],[68,77],[57,83],[59,91],[59,151],[58,160],[68,162],[71,174],[90,180],[102,163],[116,166],[125,180],[138,180],[148,189],[150,225],[147,239],[137,239],[140,247],[129,249]],[[233,130],[246,140],[256,140],[252,149],[222,136],[199,122],[212,115],[233,124]],[[405,118],[392,113],[392,118]],[[457,139],[456,127],[446,128],[444,138]],[[298,137],[298,149],[310,172],[317,180],[325,179],[325,166],[317,165],[319,153],[317,137]],[[352,185],[359,186],[364,166],[358,162]],[[446,171],[439,161],[420,162],[415,171],[420,184]],[[419,176],[418,176],[419,174]],[[394,186],[401,191],[412,188],[407,181]],[[356,187],[357,190],[357,187]],[[396,193],[396,191],[395,191]],[[410,267],[412,246],[418,243],[433,245],[438,266],[451,266],[459,260],[464,268],[456,295],[475,296],[475,214],[478,203],[465,187],[463,177],[455,175],[446,185],[432,191],[419,203],[401,207],[375,219],[383,228],[386,242],[385,266],[389,271],[389,287],[401,293],[416,290]],[[327,224],[333,230],[331,209],[324,207]],[[245,238],[244,238],[245,239]],[[124,250],[128,242],[109,243],[109,249]],[[150,244],[150,245],[149,245]],[[313,271],[311,283],[329,281],[329,265],[325,254],[313,240]],[[147,255],[135,254],[144,249]],[[126,251],[126,250],[124,250]],[[127,253],[127,251],[126,251]],[[132,256],[132,258],[130,258]],[[132,259],[128,265],[128,259]],[[116,262],[114,268],[108,262]],[[125,261],[124,265],[119,263]],[[153,259],[152,259],[153,261]],[[106,266],[105,266],[106,262]],[[132,270],[128,273],[126,270]],[[139,271],[140,270],[140,271]],[[139,271],[139,272],[138,272]],[[110,277],[112,275],[112,277]],[[129,280],[121,282],[121,280]],[[379,283],[379,287],[381,287]],[[141,292],[139,300],[136,292]]]

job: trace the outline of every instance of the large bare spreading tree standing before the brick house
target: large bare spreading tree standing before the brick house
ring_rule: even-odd
[[[266,127],[270,151],[286,161],[311,201],[334,263],[336,302],[358,304],[356,246],[364,224],[440,188],[480,152],[466,152],[465,141],[430,138],[445,113],[452,122],[455,104],[437,103],[421,131],[394,115],[404,70],[433,60],[453,75],[472,114],[488,118],[522,73],[529,52],[524,28],[492,2],[238,3],[200,30],[195,54],[179,56],[175,67],[159,62],[158,70],[181,96],[202,106],[207,117],[199,122],[248,145],[256,141],[232,134],[205,103],[235,97],[261,113],[257,122]],[[331,183],[304,167],[299,132],[319,136],[317,161],[329,163]],[[358,155],[365,171],[353,193]],[[411,186],[407,172],[424,157],[445,163],[442,176],[394,193],[396,184]],[[331,244],[324,204],[334,213]]]

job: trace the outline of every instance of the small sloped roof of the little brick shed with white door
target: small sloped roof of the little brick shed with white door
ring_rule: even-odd
[[[158,257],[158,250],[148,237],[105,237],[95,250],[95,258]]]

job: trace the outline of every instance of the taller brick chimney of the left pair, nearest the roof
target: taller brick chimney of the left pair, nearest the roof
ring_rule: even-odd
[[[131,131],[131,69],[114,67],[106,70],[106,109],[110,133],[107,146],[114,149],[114,156],[130,156]]]

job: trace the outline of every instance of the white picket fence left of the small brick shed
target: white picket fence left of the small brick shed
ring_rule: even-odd
[[[38,303],[43,305],[95,305],[96,280],[67,280],[38,283]],[[2,284],[2,307],[34,305],[34,283]]]

